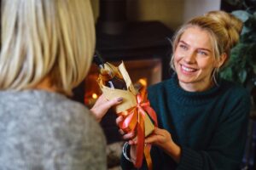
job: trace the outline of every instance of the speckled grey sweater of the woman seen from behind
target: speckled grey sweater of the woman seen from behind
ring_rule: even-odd
[[[0,169],[107,169],[106,139],[90,111],[61,94],[0,92]]]

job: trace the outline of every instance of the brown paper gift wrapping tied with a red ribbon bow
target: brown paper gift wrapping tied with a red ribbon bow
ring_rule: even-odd
[[[113,71],[117,71],[116,68],[113,68]],[[123,62],[119,65],[118,71],[125,80],[127,90],[108,88],[105,86],[106,80],[101,76],[98,78],[98,83],[107,99],[123,98],[122,104],[116,105],[114,109],[118,115],[124,116],[124,121],[119,124],[119,127],[125,133],[133,131],[137,133],[137,160],[135,166],[141,167],[144,154],[147,162],[151,162],[150,147],[144,146],[144,138],[152,133],[154,127],[157,126],[156,114],[150,107],[147,87],[142,86],[138,90],[134,88]]]

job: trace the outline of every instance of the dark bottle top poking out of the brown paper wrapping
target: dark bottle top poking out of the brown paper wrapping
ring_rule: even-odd
[[[105,86],[108,88],[127,90],[125,80],[116,66],[102,59],[98,52],[94,54],[93,62],[98,66],[100,77]]]

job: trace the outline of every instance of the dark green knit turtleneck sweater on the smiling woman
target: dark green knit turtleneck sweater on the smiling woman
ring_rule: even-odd
[[[224,80],[206,92],[187,92],[177,76],[148,88],[148,99],[159,127],[168,130],[182,148],[178,164],[163,150],[152,147],[154,170],[239,169],[247,137],[249,94]],[[123,169],[131,163],[122,159]],[[147,169],[145,162],[142,169]]]

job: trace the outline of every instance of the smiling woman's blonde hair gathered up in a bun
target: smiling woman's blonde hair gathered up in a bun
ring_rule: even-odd
[[[177,44],[182,37],[184,31],[189,27],[197,26],[203,31],[207,31],[212,42],[213,56],[216,61],[220,59],[221,54],[227,54],[227,59],[224,64],[228,62],[230,49],[233,48],[239,41],[242,22],[234,15],[224,11],[210,11],[203,16],[197,16],[185,23],[175,34],[172,41],[172,55],[174,54]],[[173,56],[171,59],[172,69],[175,71]],[[224,65],[222,65],[224,66]],[[221,67],[222,67],[221,66]],[[218,72],[216,68],[212,72],[212,77]]]

